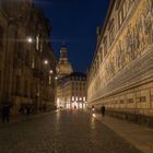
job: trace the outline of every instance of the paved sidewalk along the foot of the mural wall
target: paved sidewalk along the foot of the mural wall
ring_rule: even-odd
[[[144,153],[153,153],[153,129],[110,116],[92,116]]]

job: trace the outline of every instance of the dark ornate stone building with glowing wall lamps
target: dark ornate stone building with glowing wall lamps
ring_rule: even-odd
[[[12,114],[55,105],[49,33],[47,19],[32,0],[0,1],[0,106],[9,103]]]

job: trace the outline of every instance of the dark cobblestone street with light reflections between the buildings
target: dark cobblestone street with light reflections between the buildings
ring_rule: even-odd
[[[86,111],[62,110],[0,128],[0,153],[140,153]]]

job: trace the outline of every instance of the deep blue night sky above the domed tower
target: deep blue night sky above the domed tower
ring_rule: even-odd
[[[59,58],[62,42],[75,71],[86,72],[96,45],[96,26],[103,25],[109,0],[35,0],[51,23],[51,44]]]

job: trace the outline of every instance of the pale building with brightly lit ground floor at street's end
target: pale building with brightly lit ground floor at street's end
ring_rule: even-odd
[[[57,107],[67,109],[86,108],[86,74],[73,72],[58,81],[60,94],[57,97]]]

